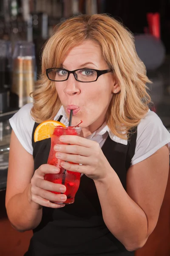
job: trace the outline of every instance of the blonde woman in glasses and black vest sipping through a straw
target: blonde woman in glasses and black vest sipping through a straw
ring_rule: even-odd
[[[147,82],[132,35],[113,18],[81,15],[57,26],[43,49],[34,104],[10,119],[6,209],[15,229],[34,231],[27,256],[127,256],[145,244],[164,197],[170,142],[148,108]],[[32,138],[45,120],[68,125],[71,109],[73,125],[83,120],[82,137],[60,137],[71,145],[54,149],[62,167],[84,175],[74,204],[63,207],[50,201],[66,196],[49,191],[65,186],[44,180],[59,172],[46,164],[50,140]]]

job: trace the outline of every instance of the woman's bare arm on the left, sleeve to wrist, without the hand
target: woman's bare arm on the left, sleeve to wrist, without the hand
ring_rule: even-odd
[[[42,207],[31,201],[30,181],[34,174],[33,156],[20,144],[12,131],[6,189],[6,210],[12,226],[31,230],[42,218]]]

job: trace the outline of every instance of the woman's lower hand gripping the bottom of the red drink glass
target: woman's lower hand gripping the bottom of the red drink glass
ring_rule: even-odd
[[[55,191],[63,193],[66,190],[66,187],[62,184],[52,183],[48,180],[44,180],[45,174],[58,174],[60,169],[49,165],[42,164],[35,172],[31,179],[31,189],[30,189],[30,198],[34,203],[39,204],[40,206],[51,207],[51,208],[60,208],[65,205],[54,204],[52,202],[61,202],[64,203],[67,199],[66,195],[63,194],[54,194],[50,191]]]

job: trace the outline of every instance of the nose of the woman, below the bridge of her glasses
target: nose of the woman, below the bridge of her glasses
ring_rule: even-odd
[[[65,81],[66,86],[64,92],[68,95],[75,95],[80,93],[79,82],[75,79],[73,74],[70,74],[68,80]]]

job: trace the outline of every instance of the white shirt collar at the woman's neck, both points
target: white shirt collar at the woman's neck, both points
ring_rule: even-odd
[[[60,120],[64,125],[68,126],[68,118],[67,118],[67,115],[65,113],[65,110],[63,108],[63,106],[61,106],[61,108],[59,109],[57,115],[54,117],[54,120],[58,120],[59,119],[59,116],[62,115],[62,119]],[[121,143],[121,144],[124,144],[124,145],[127,145],[127,140],[124,140],[124,139],[121,139],[119,137],[117,137],[116,135],[114,135],[111,130],[108,128],[108,125],[106,124],[106,122],[104,122],[104,124],[99,128],[97,129],[96,131],[94,131],[93,134],[91,134],[91,136],[88,137],[88,139],[92,139],[93,137],[96,137],[98,135],[103,135],[105,134],[106,132],[108,132],[111,140],[117,142],[117,143]]]

